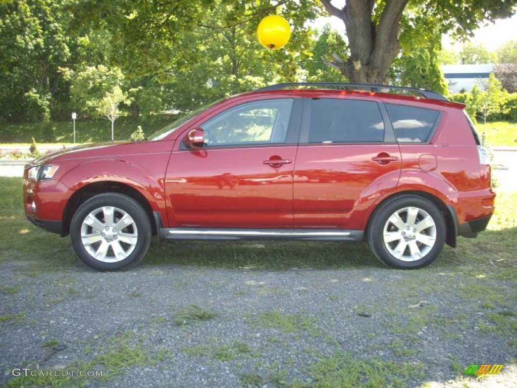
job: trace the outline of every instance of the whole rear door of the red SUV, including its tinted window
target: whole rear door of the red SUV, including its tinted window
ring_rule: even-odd
[[[295,228],[362,228],[368,206],[397,186],[401,157],[382,105],[306,100],[294,179]],[[384,108],[383,108],[384,109]]]

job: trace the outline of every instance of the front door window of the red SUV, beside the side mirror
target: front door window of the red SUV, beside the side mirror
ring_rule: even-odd
[[[208,146],[283,143],[293,99],[247,102],[210,118],[201,125]]]

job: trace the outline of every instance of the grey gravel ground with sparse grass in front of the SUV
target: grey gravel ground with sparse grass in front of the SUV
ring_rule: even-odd
[[[457,288],[468,281],[461,274],[366,265],[224,270],[144,259],[122,273],[95,272],[78,260],[31,275],[25,271],[30,265],[0,263],[0,315],[12,318],[0,321],[0,383],[16,379],[13,368],[63,373],[97,360],[93,369],[109,379],[84,378],[85,386],[264,388],[293,381],[317,386],[311,366],[339,354],[424,365],[423,375],[401,386],[463,386],[466,378],[457,379],[454,363],[505,364],[498,376],[468,378],[469,386],[517,382],[509,365],[517,359],[516,347],[508,345],[515,333],[480,330],[486,314],[482,295],[479,301],[466,299]],[[404,289],[409,281],[417,287]],[[501,300],[515,290],[514,280],[485,280],[485,285],[503,289]],[[190,305],[213,316],[176,324]],[[271,317],[286,321],[268,321]],[[98,358],[114,359],[113,352],[129,350],[140,351],[140,359],[134,356],[129,365]]]

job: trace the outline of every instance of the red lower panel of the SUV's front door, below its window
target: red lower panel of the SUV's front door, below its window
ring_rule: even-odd
[[[165,181],[171,227],[292,228],[294,163],[288,161],[296,148],[173,153]]]

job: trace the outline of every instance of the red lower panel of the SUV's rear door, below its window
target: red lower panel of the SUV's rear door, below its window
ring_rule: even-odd
[[[382,158],[386,155],[387,162]],[[375,160],[378,157],[381,160]],[[397,144],[300,146],[294,180],[295,228],[359,229],[361,212],[368,205],[363,201],[396,187],[400,166]]]

